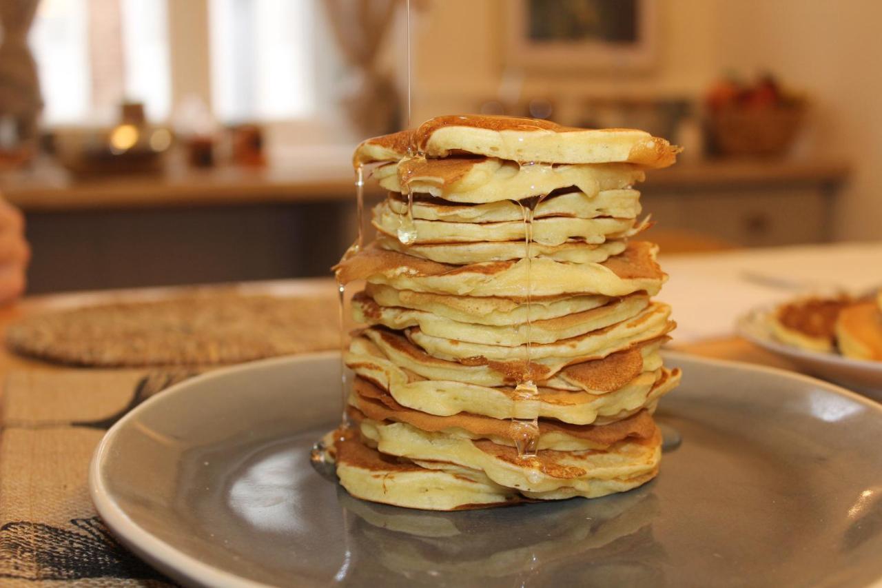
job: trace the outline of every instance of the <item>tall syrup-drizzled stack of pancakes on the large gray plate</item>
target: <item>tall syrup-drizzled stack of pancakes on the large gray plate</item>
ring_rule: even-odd
[[[633,185],[674,162],[646,132],[512,117],[439,117],[363,142],[388,198],[350,249],[350,494],[418,509],[623,492],[658,472],[652,412],[680,374],[650,299],[667,278],[629,241]]]

